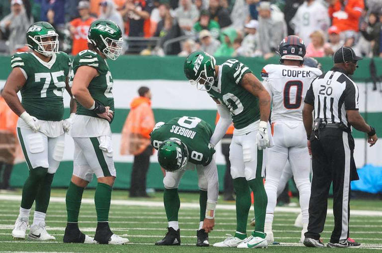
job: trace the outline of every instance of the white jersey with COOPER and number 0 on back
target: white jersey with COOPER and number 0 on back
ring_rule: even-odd
[[[268,64],[261,71],[263,85],[272,99],[272,123],[302,121],[302,103],[310,84],[322,71],[305,66]]]

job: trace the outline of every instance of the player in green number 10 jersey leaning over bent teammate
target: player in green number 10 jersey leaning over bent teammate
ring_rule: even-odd
[[[264,189],[263,149],[271,146],[268,135],[270,96],[252,71],[238,60],[216,65],[215,58],[205,52],[191,53],[184,65],[191,84],[207,91],[217,104],[220,119],[211,136],[216,145],[233,122],[230,145],[231,175],[236,191],[236,233],[215,247],[266,248],[264,221],[267,195]],[[247,238],[250,192],[254,193],[256,227]]]

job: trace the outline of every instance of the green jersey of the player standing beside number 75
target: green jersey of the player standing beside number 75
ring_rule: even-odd
[[[73,69],[71,71],[71,82],[73,81],[74,75],[76,74],[78,68],[81,66],[90,66],[98,71],[99,75],[93,78],[90,82],[88,90],[94,100],[104,106],[109,106],[110,109],[114,111],[114,98],[112,94],[113,79],[106,60],[92,50],[84,50],[76,55],[72,65]],[[99,118],[95,112],[84,108],[78,102],[77,114]]]

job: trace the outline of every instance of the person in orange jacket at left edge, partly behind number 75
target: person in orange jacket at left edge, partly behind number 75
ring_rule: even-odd
[[[17,120],[18,116],[10,110],[0,95],[0,175],[2,174],[0,189],[10,189],[9,178],[13,168],[17,145]]]

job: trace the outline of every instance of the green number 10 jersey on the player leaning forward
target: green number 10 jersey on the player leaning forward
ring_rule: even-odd
[[[218,78],[208,91],[229,109],[236,129],[260,119],[259,99],[240,85],[246,73],[252,73],[246,65],[235,59],[227,60],[219,66]]]

